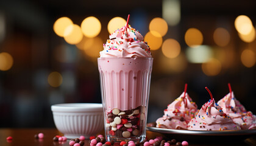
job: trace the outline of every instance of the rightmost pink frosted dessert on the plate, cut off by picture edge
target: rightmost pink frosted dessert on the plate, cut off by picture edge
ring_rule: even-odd
[[[236,100],[229,84],[229,94],[218,101],[224,113],[240,125],[241,129],[256,129],[256,116],[251,111],[246,111],[244,106]],[[231,93],[231,94],[230,94]]]

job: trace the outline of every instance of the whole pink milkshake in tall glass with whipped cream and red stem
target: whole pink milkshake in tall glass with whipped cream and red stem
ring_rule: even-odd
[[[128,24],[104,44],[98,68],[107,141],[145,139],[152,63],[148,44]]]

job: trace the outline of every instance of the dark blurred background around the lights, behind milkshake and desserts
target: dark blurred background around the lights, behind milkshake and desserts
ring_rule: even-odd
[[[148,122],[163,115],[163,109],[182,94],[185,83],[188,83],[188,94],[199,108],[210,99],[205,86],[218,101],[229,92],[227,83],[231,83],[236,99],[247,110],[256,113],[255,65],[246,68],[240,60],[245,47],[251,46],[255,52],[255,40],[250,44],[241,41],[233,24],[238,15],[247,15],[255,27],[255,7],[253,0],[180,1],[180,23],[169,26],[163,40],[175,38],[185,52],[185,32],[196,27],[204,35],[203,44],[216,46],[213,31],[219,26],[228,27],[229,47],[235,52],[234,59],[231,66],[222,68],[218,75],[212,77],[202,72],[201,64],[194,63],[187,63],[182,72],[168,71],[168,66],[165,71],[160,68],[160,49],[152,50],[154,66]],[[11,54],[13,66],[8,71],[0,71],[0,127],[54,127],[51,105],[101,103],[96,58],[91,60],[82,50],[66,43],[54,33],[52,26],[62,16],[68,16],[78,25],[88,16],[95,16],[101,21],[99,37],[105,43],[109,35],[108,21],[115,16],[126,19],[127,14],[131,15],[131,26],[145,35],[151,19],[162,17],[162,1],[1,0],[0,16],[4,20],[5,31],[4,38],[0,39],[0,53]],[[62,63],[54,58],[54,49],[59,45],[71,50],[73,61]],[[47,81],[52,71],[63,75],[63,84],[57,88],[49,86]]]

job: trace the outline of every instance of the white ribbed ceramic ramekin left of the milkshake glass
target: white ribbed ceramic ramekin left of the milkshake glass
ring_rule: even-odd
[[[55,126],[68,139],[88,139],[104,129],[102,104],[63,103],[52,105],[51,109]]]

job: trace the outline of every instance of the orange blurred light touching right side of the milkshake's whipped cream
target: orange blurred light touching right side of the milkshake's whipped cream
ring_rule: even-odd
[[[158,32],[150,31],[146,33],[144,41],[148,42],[151,50],[157,50],[162,46],[163,38]]]

